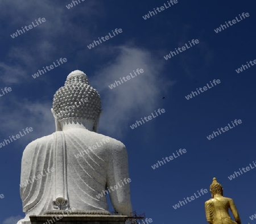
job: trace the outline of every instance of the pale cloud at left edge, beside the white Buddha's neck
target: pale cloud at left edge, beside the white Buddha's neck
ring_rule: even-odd
[[[7,97],[7,96],[6,96]],[[12,102],[12,109],[2,107],[7,102],[1,101],[0,122],[2,137],[9,139],[9,136],[16,135],[24,128],[33,128],[33,131],[24,138],[19,138],[19,143],[33,141],[36,138],[47,136],[55,132],[55,121],[51,113],[51,101],[49,102],[30,102],[23,99],[20,102],[16,96],[5,100]],[[3,141],[3,140],[0,140]]]

